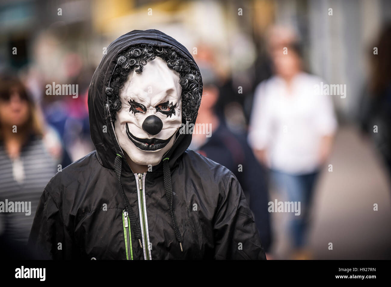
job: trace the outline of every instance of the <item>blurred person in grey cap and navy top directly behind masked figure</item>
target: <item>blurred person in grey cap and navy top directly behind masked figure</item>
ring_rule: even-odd
[[[195,124],[203,128],[195,130],[205,131],[205,133],[193,133],[190,148],[225,166],[235,174],[253,212],[262,246],[267,253],[271,244],[271,230],[270,216],[267,212],[269,199],[265,170],[249,148],[247,134],[234,134],[226,127],[224,118],[217,114],[216,103],[219,100],[217,75],[211,66],[200,67],[203,76],[203,97]],[[270,254],[267,254],[267,257],[270,259]]]

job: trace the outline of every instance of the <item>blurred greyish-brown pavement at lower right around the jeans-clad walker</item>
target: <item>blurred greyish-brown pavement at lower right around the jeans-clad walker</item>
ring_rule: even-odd
[[[391,259],[391,187],[370,141],[354,127],[341,127],[317,183],[309,245],[314,259]],[[284,200],[271,191],[272,199]],[[378,204],[378,211],[373,204]],[[275,258],[288,259],[289,215],[272,213]],[[328,243],[333,250],[328,250]]]

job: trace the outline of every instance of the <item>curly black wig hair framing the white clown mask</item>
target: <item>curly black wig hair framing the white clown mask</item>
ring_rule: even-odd
[[[182,118],[192,122],[197,117],[202,96],[201,73],[173,50],[142,44],[132,46],[117,58],[117,65],[106,88],[108,97],[106,119],[115,121],[115,116],[122,105],[120,91],[129,73],[131,71],[142,73],[143,66],[156,57],[162,58],[169,68],[179,73],[179,84],[182,87]]]

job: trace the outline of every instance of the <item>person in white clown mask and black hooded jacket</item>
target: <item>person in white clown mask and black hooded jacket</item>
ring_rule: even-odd
[[[199,68],[172,37],[133,30],[113,41],[88,91],[96,150],[45,187],[29,238],[36,253],[266,259],[233,173],[188,149],[201,96]]]

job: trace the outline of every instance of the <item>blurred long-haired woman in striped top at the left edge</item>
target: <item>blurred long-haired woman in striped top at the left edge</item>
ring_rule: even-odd
[[[50,139],[49,147],[45,145],[45,134]],[[55,138],[45,133],[39,112],[22,82],[12,75],[2,75],[0,198],[30,204],[29,215],[25,212],[2,214],[3,232],[9,240],[27,244],[39,198],[57,172],[58,149]]]

